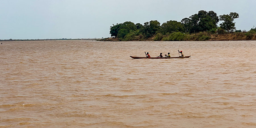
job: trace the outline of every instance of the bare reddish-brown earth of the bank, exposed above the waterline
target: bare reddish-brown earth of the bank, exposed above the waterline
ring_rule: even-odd
[[[191,35],[193,36],[193,35]],[[256,34],[252,34],[250,37],[245,36],[245,34],[212,34],[208,35],[210,39],[208,40],[196,40],[195,38],[190,38],[189,40],[183,41],[236,41],[236,40],[256,40]],[[154,41],[155,36],[152,36],[147,39],[143,39],[140,36],[137,36],[134,40],[129,41]],[[119,38],[104,38],[99,41],[121,41]],[[163,41],[163,40],[161,40]]]

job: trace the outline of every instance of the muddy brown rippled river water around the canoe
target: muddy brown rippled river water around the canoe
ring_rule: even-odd
[[[0,127],[256,127],[256,41],[2,43]]]

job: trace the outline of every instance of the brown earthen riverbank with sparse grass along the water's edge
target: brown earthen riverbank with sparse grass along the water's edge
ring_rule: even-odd
[[[243,33],[238,34],[212,34],[205,35],[206,38],[201,38],[199,35],[187,35],[187,38],[182,40],[173,40],[173,41],[237,41],[237,40],[256,40],[256,34],[251,34],[251,36],[246,36]],[[164,40],[168,36],[163,37],[161,40],[156,40],[157,36],[152,36],[150,38],[144,38],[143,36],[134,36],[132,40],[128,41],[168,41]],[[122,41],[119,38],[104,38],[100,41]]]

